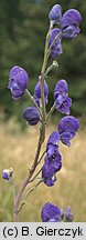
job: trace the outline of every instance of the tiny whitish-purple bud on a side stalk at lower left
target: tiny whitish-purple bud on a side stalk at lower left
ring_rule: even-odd
[[[12,173],[13,173],[13,169],[10,168],[10,169],[4,169],[2,171],[2,179],[4,180],[9,180],[11,177],[12,177]]]

